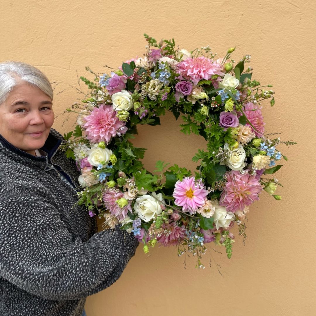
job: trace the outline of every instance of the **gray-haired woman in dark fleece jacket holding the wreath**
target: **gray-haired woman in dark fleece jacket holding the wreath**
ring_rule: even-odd
[[[0,64],[0,315],[81,316],[138,245],[119,228],[96,233],[95,218],[73,208],[78,171],[51,128],[52,100],[40,70]]]

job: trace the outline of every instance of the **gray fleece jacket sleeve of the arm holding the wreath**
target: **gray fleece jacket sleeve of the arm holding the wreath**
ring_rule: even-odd
[[[135,254],[137,239],[119,228],[73,240],[45,201],[0,204],[0,276],[49,300],[75,300],[110,286]]]

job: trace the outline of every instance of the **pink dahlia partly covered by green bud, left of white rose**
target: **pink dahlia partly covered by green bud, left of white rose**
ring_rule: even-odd
[[[106,210],[109,210],[112,215],[114,215],[119,220],[122,220],[126,217],[128,211],[132,211],[131,202],[128,201],[128,204],[122,209],[116,203],[117,200],[123,197],[123,192],[117,188],[107,189],[102,197],[104,206]]]

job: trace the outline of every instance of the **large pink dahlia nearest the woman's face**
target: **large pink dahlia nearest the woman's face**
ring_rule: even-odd
[[[91,114],[84,119],[85,134],[92,143],[104,141],[108,144],[111,137],[121,136],[127,131],[126,123],[116,117],[116,111],[110,105],[101,104],[94,107]]]

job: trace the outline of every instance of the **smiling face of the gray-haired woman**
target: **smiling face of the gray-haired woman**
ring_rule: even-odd
[[[51,98],[27,83],[16,86],[0,104],[0,134],[29,154],[44,145],[53,122]]]

